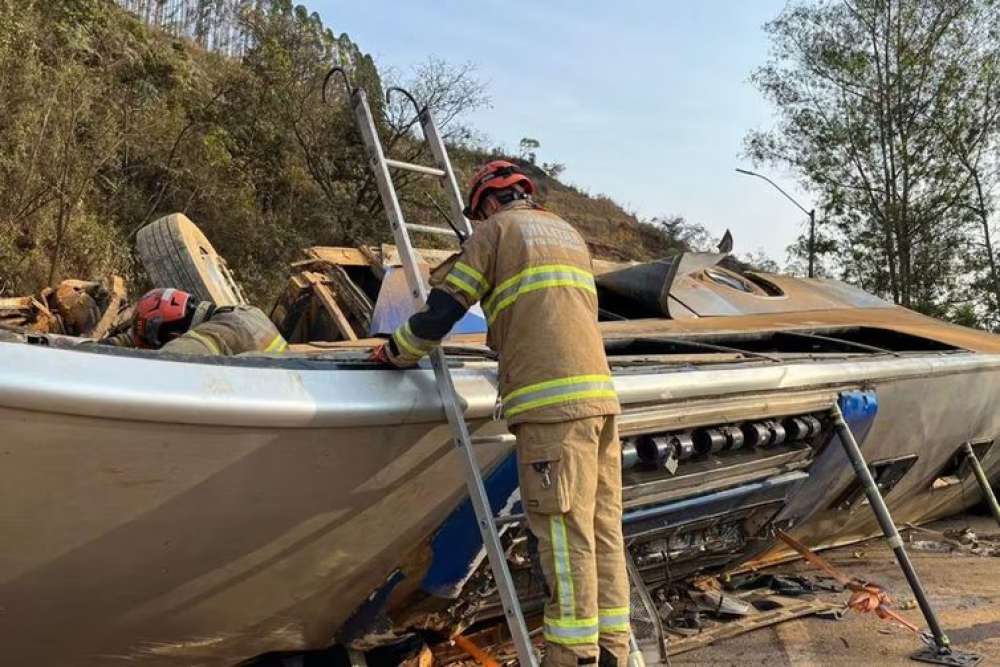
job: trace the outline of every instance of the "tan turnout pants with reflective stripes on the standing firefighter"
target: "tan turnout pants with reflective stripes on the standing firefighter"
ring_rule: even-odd
[[[543,665],[596,665],[603,649],[624,666],[629,584],[615,418],[522,423],[513,431],[521,499],[551,591]]]

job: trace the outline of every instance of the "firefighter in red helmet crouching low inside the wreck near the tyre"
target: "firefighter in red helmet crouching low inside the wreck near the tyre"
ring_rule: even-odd
[[[171,354],[212,356],[288,349],[285,339],[260,309],[199,302],[187,292],[173,288],[146,292],[135,305],[129,330],[100,342]]]

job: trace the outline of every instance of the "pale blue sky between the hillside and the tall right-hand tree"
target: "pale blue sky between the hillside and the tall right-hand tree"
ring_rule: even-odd
[[[761,30],[785,0],[306,0],[380,66],[434,55],[472,62],[492,108],[469,117],[494,144],[541,142],[564,180],[648,217],[683,215],[736,252],[783,263],[804,217],[767,183],[733,171],[744,133],[773,123],[749,83]],[[517,10],[521,10],[518,14]],[[793,179],[766,171],[810,208]]]

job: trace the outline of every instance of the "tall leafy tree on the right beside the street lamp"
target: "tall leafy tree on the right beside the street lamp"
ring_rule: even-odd
[[[975,0],[796,3],[765,26],[753,81],[778,127],[751,132],[756,162],[791,167],[820,200],[842,277],[927,312],[957,289],[972,182],[943,128],[978,85]]]

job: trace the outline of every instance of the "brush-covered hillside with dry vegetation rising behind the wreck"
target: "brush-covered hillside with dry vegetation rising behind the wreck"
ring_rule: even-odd
[[[381,102],[376,64],[302,7],[255,7],[230,17],[237,57],[111,0],[0,0],[0,295],[108,272],[142,289],[134,234],[175,211],[199,224],[262,305],[300,248],[389,240],[350,111],[319,97],[331,65],[349,68],[393,154],[427,160]],[[489,157],[456,150],[463,182]],[[610,199],[526,168],[540,201],[597,256],[649,258],[679,244]],[[427,183],[401,187],[415,221],[439,224],[434,194]]]

